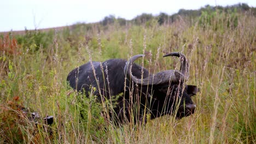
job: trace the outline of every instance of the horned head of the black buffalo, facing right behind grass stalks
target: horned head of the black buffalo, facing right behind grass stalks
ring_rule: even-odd
[[[144,55],[136,55],[126,62],[124,71],[128,79],[137,83],[142,89],[147,88],[149,101],[154,100],[149,107],[152,118],[161,115],[176,115],[177,118],[189,116],[195,112],[196,105],[191,96],[199,92],[196,86],[186,85],[189,77],[189,64],[187,58],[179,52],[168,53],[167,56],[176,56],[181,59],[180,70],[160,71],[155,75],[149,75],[139,79],[132,74],[132,63]]]

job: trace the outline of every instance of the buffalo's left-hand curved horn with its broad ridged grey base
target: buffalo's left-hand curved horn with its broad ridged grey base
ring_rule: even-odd
[[[131,73],[131,66],[132,63],[139,57],[143,57],[144,55],[135,55],[129,59],[129,61],[126,62],[124,71],[127,72],[127,76],[134,82],[137,82],[140,85],[159,85],[161,83],[169,83],[169,82],[179,82],[179,80],[184,81],[184,76],[181,75],[181,73],[178,70],[165,70],[160,71],[159,73],[155,75],[149,75],[148,77],[144,79],[137,79],[135,76]]]

